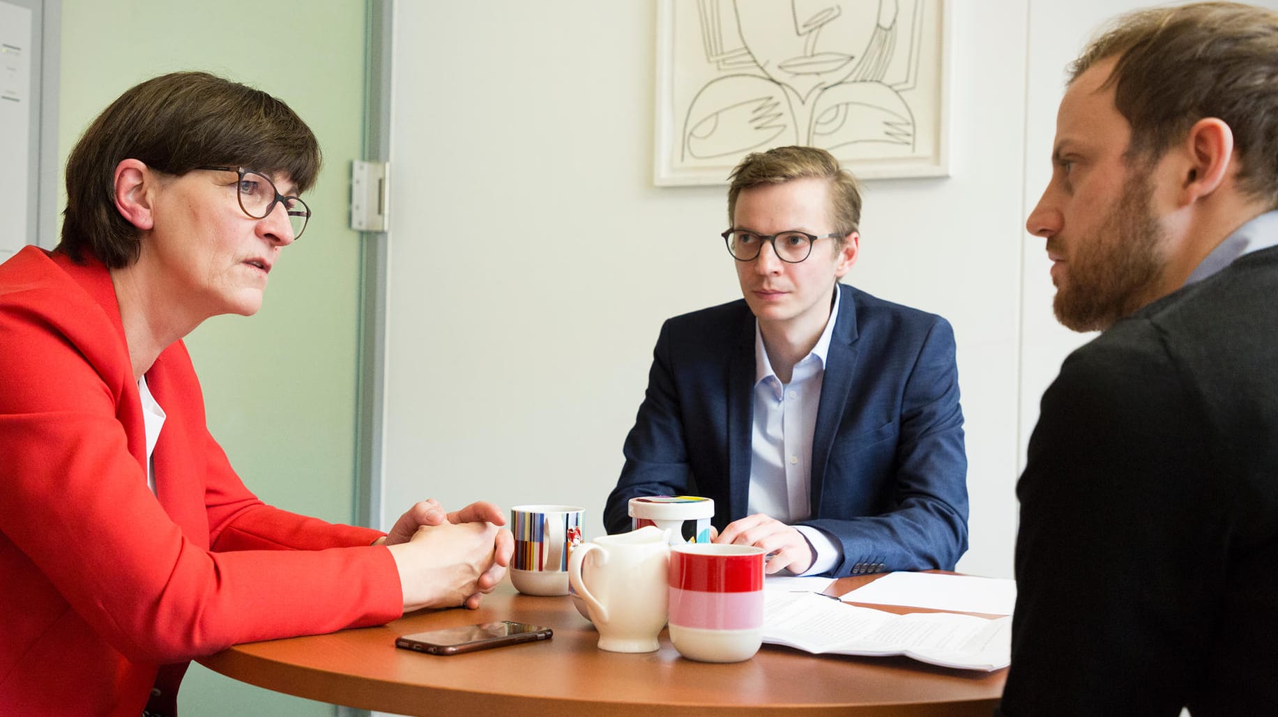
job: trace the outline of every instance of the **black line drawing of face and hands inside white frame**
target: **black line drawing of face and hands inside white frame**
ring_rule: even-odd
[[[698,0],[707,61],[730,74],[689,102],[682,157],[721,158],[778,144],[837,150],[859,143],[911,148],[914,112],[884,82],[906,43],[907,0]]]

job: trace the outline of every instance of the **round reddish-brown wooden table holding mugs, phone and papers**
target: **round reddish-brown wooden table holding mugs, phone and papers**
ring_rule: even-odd
[[[870,579],[845,578],[827,592],[843,594]],[[555,636],[447,657],[395,647],[397,635],[491,620],[546,625]],[[680,657],[666,631],[661,649],[643,654],[603,652],[597,639],[570,598],[519,594],[507,580],[475,611],[419,611],[381,628],[235,645],[199,662],[270,690],[420,716],[989,717],[1007,672],[767,644],[745,662],[707,665]]]

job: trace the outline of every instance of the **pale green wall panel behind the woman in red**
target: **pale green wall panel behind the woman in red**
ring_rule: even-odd
[[[265,501],[349,523],[355,483],[359,235],[349,229],[349,166],[362,158],[360,0],[63,0],[59,155],[124,89],[202,69],[286,101],[325,153],[305,196],[314,216],[271,272],[262,311],[219,317],[188,339],[208,424]],[[332,714],[192,666],[183,717]]]

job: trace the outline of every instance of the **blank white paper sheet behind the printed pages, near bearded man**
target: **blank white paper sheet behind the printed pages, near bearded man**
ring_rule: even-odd
[[[1011,615],[1016,607],[1016,580],[938,573],[888,573],[868,585],[845,593],[843,599],[951,612]]]

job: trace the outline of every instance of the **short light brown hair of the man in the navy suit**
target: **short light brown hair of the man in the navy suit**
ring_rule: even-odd
[[[736,198],[743,189],[809,176],[829,181],[829,219],[835,222],[835,231],[840,236],[856,231],[861,224],[861,193],[856,178],[840,166],[833,155],[817,147],[773,147],[767,152],[746,155],[728,175],[728,225],[735,219]]]

